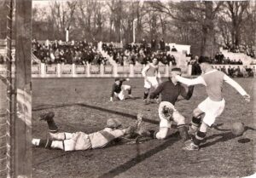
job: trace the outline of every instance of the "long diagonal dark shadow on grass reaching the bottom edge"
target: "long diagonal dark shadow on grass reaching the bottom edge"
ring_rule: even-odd
[[[176,132],[172,136],[170,135],[169,139],[167,139],[164,143],[160,144],[159,146],[154,147],[153,149],[149,150],[148,152],[144,152],[140,154],[139,144],[134,144],[137,149],[137,157],[131,158],[125,164],[120,164],[118,167],[109,170],[107,173],[100,175],[99,178],[112,178],[117,176],[128,169],[131,169],[133,166],[143,162],[145,159],[152,157],[154,154],[165,150],[168,146],[172,146],[173,143],[179,141],[179,137],[177,136],[178,133]]]

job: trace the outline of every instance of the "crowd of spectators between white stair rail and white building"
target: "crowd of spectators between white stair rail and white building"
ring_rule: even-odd
[[[163,38],[160,39],[159,44],[154,39],[151,43],[147,43],[143,38],[141,43],[127,43],[124,48],[115,47],[113,43],[102,43],[102,50],[120,66],[147,64],[153,58],[157,58],[164,65],[169,65],[170,62],[173,66],[177,64],[175,57],[168,53],[170,50],[177,51],[177,49],[174,47],[170,49]]]

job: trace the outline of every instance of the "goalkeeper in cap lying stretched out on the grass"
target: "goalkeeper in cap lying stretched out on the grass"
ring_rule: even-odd
[[[123,135],[131,135],[140,128],[142,115],[137,115],[135,125],[122,129],[122,123],[118,119],[109,118],[107,126],[98,132],[85,134],[84,132],[59,132],[54,121],[54,112],[48,112],[40,116],[41,120],[48,123],[49,139],[32,139],[32,145],[36,147],[55,148],[64,151],[79,151],[96,149],[107,146]]]

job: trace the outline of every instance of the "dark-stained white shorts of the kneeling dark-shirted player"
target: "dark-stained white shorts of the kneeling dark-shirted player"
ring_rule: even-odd
[[[160,128],[170,128],[171,129],[172,121],[167,120],[166,118],[163,118],[162,114],[160,114],[163,109],[163,106],[165,106],[166,104],[172,105],[172,103],[170,103],[170,102],[162,101],[162,102],[160,102],[160,106],[158,108],[158,114],[159,114],[159,118],[160,118]],[[174,112],[172,114],[173,121],[176,122],[177,125],[185,124],[185,118],[183,117],[183,115],[181,115],[177,111],[177,109],[175,109],[175,107],[173,105],[172,105],[172,108],[174,110]]]

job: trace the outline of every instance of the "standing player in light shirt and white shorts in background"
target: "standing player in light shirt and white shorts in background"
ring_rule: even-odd
[[[161,82],[158,60],[156,58],[153,58],[152,63],[149,63],[147,66],[145,66],[143,68],[142,74],[143,74],[143,78],[144,78],[143,100],[146,101],[151,87],[156,89],[158,87],[159,83]],[[159,78],[159,81],[157,81],[157,78]]]

